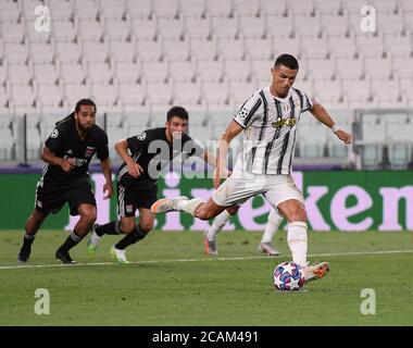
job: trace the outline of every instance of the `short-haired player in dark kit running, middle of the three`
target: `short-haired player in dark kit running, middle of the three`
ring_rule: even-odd
[[[88,238],[88,253],[95,253],[104,234],[125,234],[110,253],[120,263],[128,263],[125,248],[146,237],[153,228],[151,206],[158,199],[158,177],[177,156],[197,156],[215,166],[215,157],[200,148],[187,134],[188,112],[182,107],[167,111],[165,127],[147,129],[122,139],[115,149],[124,163],[117,172],[117,210],[120,220],[95,225]],[[130,153],[128,152],[130,151]],[[139,210],[139,223],[135,222]]]

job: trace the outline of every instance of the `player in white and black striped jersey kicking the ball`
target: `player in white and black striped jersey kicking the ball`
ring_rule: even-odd
[[[303,112],[329,127],[345,144],[351,135],[340,129],[328,112],[308,94],[292,88],[299,71],[297,59],[279,55],[271,69],[273,80],[268,87],[255,92],[242,104],[218,145],[217,175],[225,176],[226,156],[230,141],[242,130],[246,140],[238,156],[233,175],[214,191],[206,202],[203,199],[161,199],[151,208],[154,213],[185,211],[201,220],[209,220],[231,206],[241,204],[262,194],[288,221],[288,246],[292,260],[303,269],[306,282],[323,277],[329,270],[327,262],[310,266],[306,263],[308,235],[304,199],[290,173],[296,147],[297,126]]]

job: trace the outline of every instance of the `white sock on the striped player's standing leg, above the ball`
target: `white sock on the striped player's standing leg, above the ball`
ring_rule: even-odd
[[[301,266],[306,265],[306,223],[300,221],[289,223],[287,240],[291,250],[292,261]]]

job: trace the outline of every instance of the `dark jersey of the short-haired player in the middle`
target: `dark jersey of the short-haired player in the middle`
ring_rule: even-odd
[[[183,134],[180,139],[174,139],[173,144],[168,142],[165,127],[147,129],[126,141],[130,157],[142,167],[143,173],[137,178],[130,176],[126,163],[123,162],[117,172],[117,182],[140,188],[157,185],[160,172],[174,158],[182,156],[185,160],[190,156],[202,157],[204,152],[187,134]]]

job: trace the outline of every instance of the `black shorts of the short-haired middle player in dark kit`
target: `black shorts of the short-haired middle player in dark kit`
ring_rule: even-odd
[[[117,213],[123,217],[135,216],[139,208],[151,209],[158,200],[158,186],[137,188],[117,183]]]

